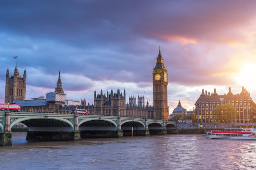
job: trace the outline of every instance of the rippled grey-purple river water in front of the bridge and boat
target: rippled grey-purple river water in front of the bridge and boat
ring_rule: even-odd
[[[26,141],[12,132],[13,146],[0,147],[4,170],[252,170],[256,141],[202,135],[157,135],[79,142]]]

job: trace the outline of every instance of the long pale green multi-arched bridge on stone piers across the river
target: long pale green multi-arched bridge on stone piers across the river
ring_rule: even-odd
[[[132,117],[61,113],[0,112],[0,146],[12,146],[11,128],[27,126],[26,140],[80,141],[81,137],[166,135],[177,132],[177,123]]]

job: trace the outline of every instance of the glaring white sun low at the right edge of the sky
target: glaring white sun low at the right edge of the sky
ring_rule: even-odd
[[[238,84],[244,86],[245,88],[255,88],[256,64],[245,64],[235,79]]]

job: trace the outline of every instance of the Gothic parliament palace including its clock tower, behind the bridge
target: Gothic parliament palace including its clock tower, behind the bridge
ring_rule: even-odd
[[[153,102],[151,106],[146,102],[144,95],[138,95],[137,102],[135,96],[129,96],[126,103],[126,91],[107,91],[103,94],[94,91],[94,104],[89,105],[85,99],[79,101],[66,100],[59,72],[57,85],[54,92],[49,92],[45,97],[26,100],[26,69],[23,77],[19,75],[18,68],[15,68],[14,75],[10,77],[9,68],[6,73],[5,103],[15,103],[20,105],[21,112],[43,112],[43,113],[71,113],[72,109],[86,109],[90,115],[111,115],[135,118],[149,118],[168,120],[167,85],[168,73],[164,66],[164,59],[159,47],[156,65],[153,69]]]

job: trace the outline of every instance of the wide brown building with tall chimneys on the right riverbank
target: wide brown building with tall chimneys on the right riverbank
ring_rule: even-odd
[[[240,93],[229,92],[218,95],[207,91],[202,93],[195,102],[196,119],[198,122],[219,123],[252,123],[256,122],[256,104],[250,93],[242,87]]]

